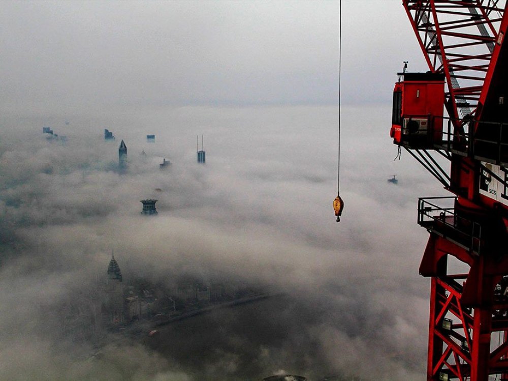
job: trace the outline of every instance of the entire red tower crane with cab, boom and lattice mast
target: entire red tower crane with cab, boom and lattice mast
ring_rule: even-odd
[[[427,380],[508,381],[508,5],[403,6],[429,71],[398,73],[390,136],[452,193],[418,201]]]

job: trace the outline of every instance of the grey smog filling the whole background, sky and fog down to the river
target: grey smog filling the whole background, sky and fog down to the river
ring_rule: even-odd
[[[399,3],[3,2],[0,379],[423,380]]]

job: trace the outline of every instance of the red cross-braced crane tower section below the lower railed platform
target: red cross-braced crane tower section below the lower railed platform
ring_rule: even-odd
[[[448,270],[453,255],[468,273]],[[420,273],[431,277],[428,380],[508,379],[508,263],[450,241],[433,229]]]

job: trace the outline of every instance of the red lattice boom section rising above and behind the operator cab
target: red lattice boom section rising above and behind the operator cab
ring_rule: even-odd
[[[404,0],[403,4],[429,69],[446,75],[450,117],[473,115],[505,1]]]

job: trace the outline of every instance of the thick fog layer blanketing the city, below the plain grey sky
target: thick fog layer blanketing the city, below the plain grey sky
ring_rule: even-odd
[[[417,269],[427,234],[416,199],[439,186],[407,156],[393,161],[386,109],[347,108],[342,118],[339,224],[334,107],[160,108],[100,126],[76,118],[52,125],[65,143],[42,134],[43,118],[7,121],[2,378],[260,379],[284,370],[421,379],[428,282]],[[103,127],[117,139],[105,141]],[[196,163],[195,132],[206,165]],[[168,170],[158,168],[163,158]],[[394,173],[398,185],[387,182]],[[140,215],[139,200],[151,197],[159,214]],[[187,274],[282,295],[169,325],[168,341],[113,337],[92,361],[86,342],[60,339],[54,308],[85,303],[112,249],[125,280],[171,285]]]

